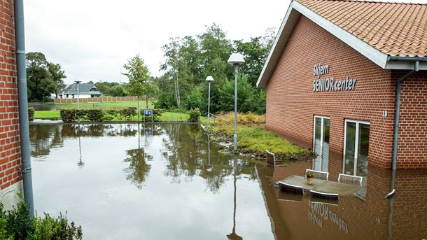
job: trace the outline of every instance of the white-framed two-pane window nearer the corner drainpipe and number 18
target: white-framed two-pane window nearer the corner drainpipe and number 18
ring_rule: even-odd
[[[367,176],[369,122],[346,120],[344,129],[344,174]]]

